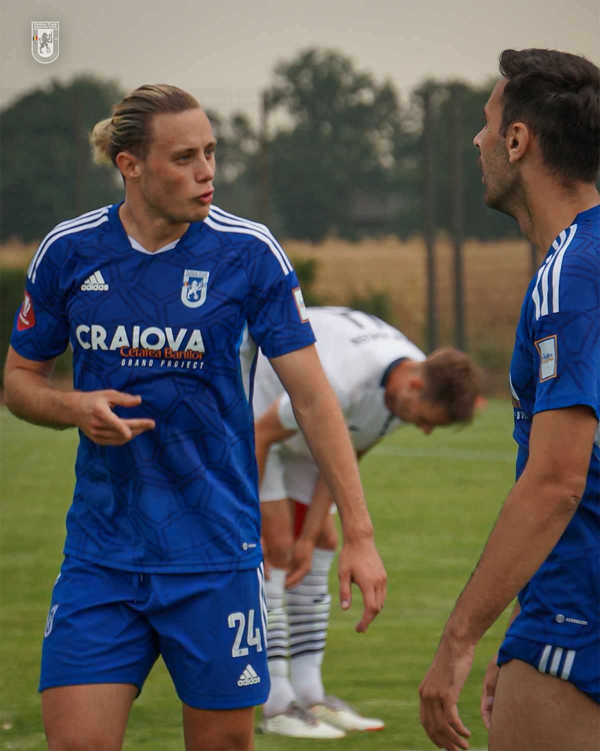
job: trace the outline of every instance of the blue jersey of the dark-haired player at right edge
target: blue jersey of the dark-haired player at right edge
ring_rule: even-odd
[[[586,405],[600,417],[599,220],[598,207],[584,211],[556,237],[523,302],[510,370],[517,478],[537,412]],[[600,432],[580,505],[520,592],[511,636],[564,647],[598,638],[599,443]]]

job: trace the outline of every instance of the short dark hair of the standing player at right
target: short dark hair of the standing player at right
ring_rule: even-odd
[[[502,124],[521,121],[538,139],[548,172],[562,185],[594,182],[600,167],[600,69],[557,50],[504,50]]]

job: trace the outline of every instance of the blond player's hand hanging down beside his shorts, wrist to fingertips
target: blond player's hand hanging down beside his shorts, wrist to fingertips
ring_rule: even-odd
[[[354,583],[361,590],[365,610],[356,631],[363,633],[383,608],[387,593],[386,569],[372,537],[352,541],[344,539],[338,562],[338,578],[342,610],[347,610],[352,604],[350,585]]]

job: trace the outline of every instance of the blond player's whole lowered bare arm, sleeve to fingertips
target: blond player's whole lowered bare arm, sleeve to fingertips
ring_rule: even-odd
[[[296,421],[338,505],[344,532],[338,564],[341,606],[344,610],[350,607],[350,583],[354,581],[365,603],[356,630],[365,631],[383,608],[386,572],[375,548],[373,525],[344,417],[314,345],[274,357],[271,363],[290,394]]]

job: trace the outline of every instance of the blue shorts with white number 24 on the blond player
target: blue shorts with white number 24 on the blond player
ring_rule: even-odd
[[[133,683],[157,657],[181,701],[199,709],[269,695],[263,566],[240,572],[131,574],[71,556],[52,591],[40,691]]]

